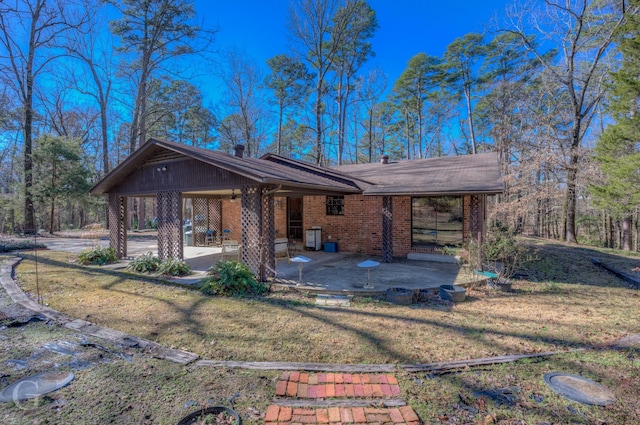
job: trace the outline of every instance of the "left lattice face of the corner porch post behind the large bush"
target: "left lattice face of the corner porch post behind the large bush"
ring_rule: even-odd
[[[240,209],[242,262],[260,276],[260,236],[262,235],[262,199],[259,186],[243,186]]]

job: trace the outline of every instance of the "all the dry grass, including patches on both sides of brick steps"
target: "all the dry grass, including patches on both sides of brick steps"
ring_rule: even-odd
[[[206,297],[79,267],[69,262],[70,254],[56,252],[38,253],[38,274],[45,302],[58,310],[209,359],[420,363],[595,347],[436,377],[398,376],[403,398],[425,423],[638,423],[640,352],[606,345],[639,332],[640,296],[591,264],[589,256],[629,269],[638,265],[638,257],[530,243],[539,260],[522,272],[526,279],[514,282],[513,293],[476,288],[462,304],[434,300],[414,308],[375,298],[356,299],[348,308],[317,307],[311,296],[286,293]],[[22,255],[17,277],[33,291],[35,264],[29,253]],[[0,332],[7,337],[0,339],[0,374],[9,382],[27,372],[14,370],[7,359],[29,357],[47,340],[78,338],[41,323]],[[36,357],[43,368],[53,362]],[[542,376],[551,371],[594,379],[610,388],[617,402],[602,408],[568,401],[544,384]],[[226,404],[240,393],[236,408],[243,420],[260,423],[250,416],[264,413],[279,374],[184,367],[134,355],[133,362],[109,359],[76,375],[42,405],[20,410],[1,404],[0,422],[174,424],[195,409],[189,407],[194,401]],[[481,394],[505,387],[519,391],[512,406],[498,406]]]

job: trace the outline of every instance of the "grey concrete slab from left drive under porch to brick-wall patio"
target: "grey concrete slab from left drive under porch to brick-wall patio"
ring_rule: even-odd
[[[76,239],[76,238],[42,238],[51,250],[80,252],[92,246],[108,246],[105,239]],[[132,257],[151,251],[157,255],[155,240],[151,238],[131,239],[127,241],[129,255]],[[365,256],[355,253],[330,253],[323,251],[305,251],[297,249],[296,255],[302,255],[311,261],[302,266],[302,281],[298,281],[299,265],[287,259],[279,259],[276,265],[276,279],[274,284],[286,285],[297,290],[337,293],[337,294],[379,294],[389,288],[427,289],[440,285],[465,285],[473,281],[473,276],[465,272],[455,263],[441,263],[433,261],[417,261],[395,259],[393,263],[383,263],[381,258]],[[212,247],[184,247],[185,261],[191,267],[193,274],[176,278],[176,282],[195,284],[207,270],[222,259],[222,249]],[[365,260],[380,263],[371,268],[371,285],[367,283],[367,269],[358,267]]]

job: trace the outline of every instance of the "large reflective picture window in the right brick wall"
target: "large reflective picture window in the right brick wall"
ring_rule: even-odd
[[[462,205],[461,196],[412,198],[412,245],[461,245]]]

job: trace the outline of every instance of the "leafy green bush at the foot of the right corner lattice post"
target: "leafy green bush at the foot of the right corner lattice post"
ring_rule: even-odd
[[[200,291],[207,295],[261,295],[268,290],[256,281],[249,267],[235,260],[218,262],[208,275],[199,284]]]

